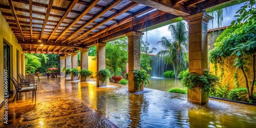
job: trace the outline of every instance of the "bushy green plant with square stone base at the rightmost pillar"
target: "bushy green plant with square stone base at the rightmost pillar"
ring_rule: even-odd
[[[205,71],[203,75],[188,73],[181,81],[183,87],[188,88],[187,100],[202,105],[208,102],[209,92],[215,91],[219,78]]]

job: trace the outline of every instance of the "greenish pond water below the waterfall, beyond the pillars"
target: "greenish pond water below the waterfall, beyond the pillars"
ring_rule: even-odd
[[[168,92],[172,88],[183,88],[181,80],[175,80],[173,78],[165,77],[150,77],[148,79],[150,84],[146,84],[145,88],[156,89],[160,91]]]

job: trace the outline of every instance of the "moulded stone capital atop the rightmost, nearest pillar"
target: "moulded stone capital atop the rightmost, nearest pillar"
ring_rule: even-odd
[[[208,24],[209,20],[211,20],[212,17],[204,12],[201,12],[198,14],[183,17],[183,19],[186,20],[188,25],[193,25],[193,24],[197,24],[197,23]]]

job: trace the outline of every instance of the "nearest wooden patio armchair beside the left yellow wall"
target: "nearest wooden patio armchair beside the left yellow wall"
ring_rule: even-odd
[[[14,77],[10,77],[12,80],[12,83],[15,87],[16,93],[15,96],[13,97],[12,102],[14,102],[15,98],[16,100],[18,99],[18,93],[20,96],[20,93],[24,93],[24,92],[32,92],[32,96],[34,97],[34,93],[35,93],[35,99],[36,99],[36,87],[35,86],[30,86],[30,87],[24,87],[23,85],[25,83],[20,83],[19,81],[17,81]]]

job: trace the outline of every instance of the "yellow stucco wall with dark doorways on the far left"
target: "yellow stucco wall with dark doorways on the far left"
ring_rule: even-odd
[[[25,73],[25,56],[22,47],[18,44],[18,41],[11,31],[6,19],[2,15],[0,10],[0,103],[4,100],[4,42],[10,46],[10,76],[17,78],[17,73]],[[18,51],[18,68],[17,68],[17,53]],[[23,59],[22,59],[23,56]],[[22,62],[22,60],[24,62]],[[17,71],[18,69],[18,71]],[[13,91],[13,84],[11,81],[11,91]]]

